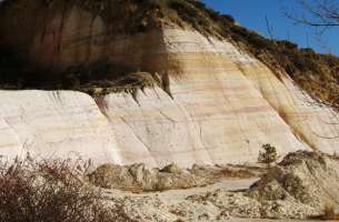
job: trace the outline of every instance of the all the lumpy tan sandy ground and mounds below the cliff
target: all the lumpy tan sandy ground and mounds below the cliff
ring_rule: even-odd
[[[47,170],[54,175],[53,170]],[[183,170],[170,164],[161,170],[149,170],[144,164],[107,164],[86,176],[82,174],[86,169],[77,167],[73,170],[81,173],[66,178],[90,188],[96,195],[98,193],[100,204],[104,209],[109,206],[109,212],[117,214],[116,221],[121,222],[226,221],[239,218],[308,220],[325,218],[325,211],[331,212],[326,209],[329,204],[333,208],[333,216],[339,210],[339,158],[321,153],[290,153],[260,180],[253,172],[261,173],[262,169],[239,165],[193,165]],[[58,180],[63,174],[60,172]],[[32,180],[39,182],[37,185],[44,184],[44,174],[33,174],[43,179],[42,183]],[[250,174],[253,176],[248,178]],[[34,176],[28,174],[26,178],[31,180]],[[24,176],[18,179],[21,178]],[[89,186],[87,178],[92,184],[106,189]]]

